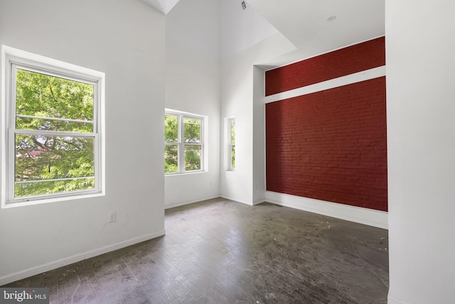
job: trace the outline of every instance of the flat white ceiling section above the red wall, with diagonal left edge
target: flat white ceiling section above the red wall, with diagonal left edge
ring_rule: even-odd
[[[385,0],[249,0],[305,55],[385,34]]]

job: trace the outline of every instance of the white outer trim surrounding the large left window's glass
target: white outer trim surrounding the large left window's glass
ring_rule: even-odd
[[[8,147],[11,147],[11,136],[9,131],[10,119],[15,116],[14,104],[11,99],[14,97],[11,92],[11,66],[20,65],[31,70],[43,70],[46,74],[64,75],[65,78],[97,82],[95,89],[94,104],[94,132],[92,134],[71,134],[72,136],[89,136],[95,139],[95,189],[81,190],[75,192],[58,193],[51,195],[36,195],[33,197],[22,197],[11,199],[9,195],[9,181],[11,176],[14,180],[14,163],[8,160]],[[14,80],[15,81],[15,80]],[[1,45],[1,207],[19,207],[24,205],[36,205],[45,202],[58,202],[74,200],[87,197],[105,195],[105,73],[80,67],[60,60],[55,60],[41,55],[18,50],[6,45]],[[33,130],[30,130],[33,133]],[[14,147],[14,144],[12,145]],[[14,150],[14,148],[13,148]],[[14,152],[13,152],[14,153]],[[10,162],[10,163],[9,163]],[[12,173],[12,175],[11,175]]]

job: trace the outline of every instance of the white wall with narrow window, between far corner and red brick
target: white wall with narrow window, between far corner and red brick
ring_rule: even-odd
[[[294,50],[247,3],[220,0],[221,119],[235,117],[235,170],[228,170],[227,132],[220,131],[220,194],[250,205],[264,201],[264,71],[255,65]]]

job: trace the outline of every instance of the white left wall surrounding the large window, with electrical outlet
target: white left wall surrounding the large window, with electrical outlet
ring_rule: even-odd
[[[139,0],[0,1],[0,44],[106,73],[105,197],[0,210],[0,285],[164,234],[164,26]]]

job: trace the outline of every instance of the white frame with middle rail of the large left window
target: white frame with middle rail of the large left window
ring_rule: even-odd
[[[6,45],[1,46],[1,63],[1,91],[3,92],[1,94],[1,118],[4,121],[1,124],[1,166],[5,168],[1,173],[1,206],[16,207],[105,195],[105,73],[18,50]],[[93,126],[92,133],[16,129],[16,71],[18,68],[93,85],[93,120],[90,121]],[[51,119],[55,119],[55,117],[51,117]],[[57,120],[71,121],[71,119]],[[16,184],[16,134],[92,138],[94,141],[93,178],[95,179],[95,187],[89,190],[14,197],[14,185]],[[65,180],[65,178],[55,180]],[[45,180],[41,180],[41,182],[43,181]]]

